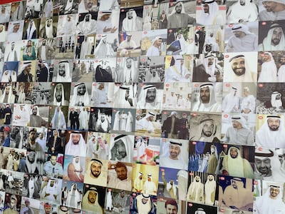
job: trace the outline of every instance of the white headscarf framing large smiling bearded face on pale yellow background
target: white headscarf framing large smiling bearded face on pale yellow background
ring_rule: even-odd
[[[244,58],[244,68],[245,73],[241,76],[238,76],[237,74],[232,71],[232,61],[236,58]],[[227,68],[224,70],[224,81],[225,82],[254,82],[257,80],[252,79],[252,71],[250,71],[249,65],[247,63],[247,58],[243,54],[238,54],[233,56],[229,59],[229,62],[227,63]]]

